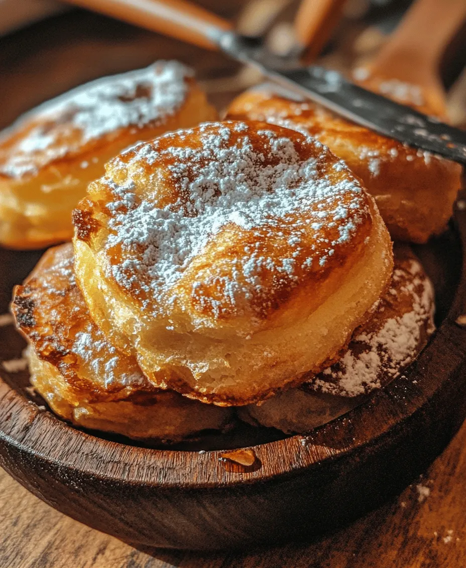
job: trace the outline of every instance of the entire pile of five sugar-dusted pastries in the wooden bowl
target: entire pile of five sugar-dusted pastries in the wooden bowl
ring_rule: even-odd
[[[159,62],[3,135],[3,244],[66,240],[73,220],[73,243],[47,250],[12,303],[57,415],[150,441],[235,420],[306,433],[417,357],[434,292],[392,239],[442,231],[460,170],[326,112],[259,90],[204,122],[215,111],[192,73]]]

